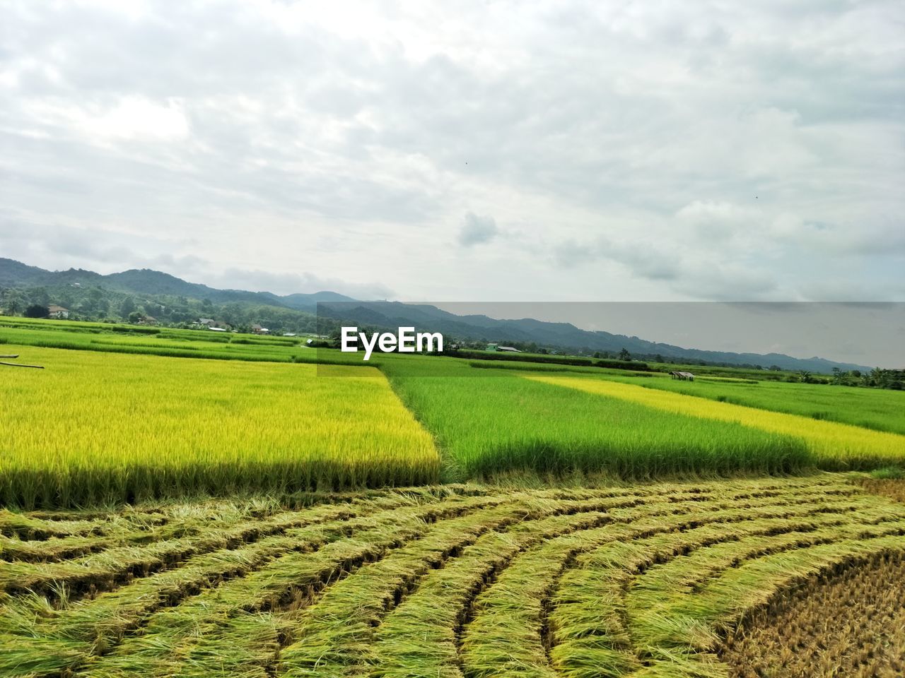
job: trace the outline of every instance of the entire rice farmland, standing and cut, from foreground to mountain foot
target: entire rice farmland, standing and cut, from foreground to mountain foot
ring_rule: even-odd
[[[816,468],[905,436],[101,329],[0,327],[0,676],[901,675],[905,481]]]

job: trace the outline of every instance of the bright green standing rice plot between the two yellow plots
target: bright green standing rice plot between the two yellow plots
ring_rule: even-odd
[[[624,478],[789,473],[812,463],[795,438],[734,422],[664,413],[509,371],[481,370],[490,373],[481,378],[463,366],[419,377],[401,368],[383,364],[406,407],[436,438],[449,480],[525,471]]]

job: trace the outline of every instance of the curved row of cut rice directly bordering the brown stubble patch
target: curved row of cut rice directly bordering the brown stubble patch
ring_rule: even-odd
[[[678,618],[664,601],[693,595],[709,579],[744,567],[748,560],[806,551],[854,535],[860,539],[898,536],[903,528],[905,514],[890,515],[886,508],[864,506],[843,520],[813,513],[806,522],[758,519],[745,527],[733,525],[730,531],[711,524],[679,534],[607,544],[580,556],[579,567],[560,582],[550,621],[553,663],[559,673],[575,677],[641,671],[647,662],[639,636],[650,633],[650,626],[670,628]],[[663,660],[661,668],[666,664]]]

